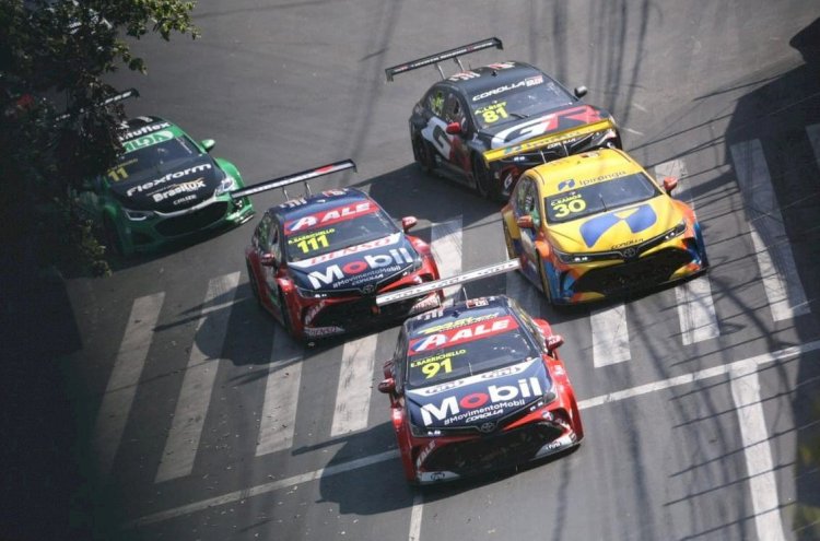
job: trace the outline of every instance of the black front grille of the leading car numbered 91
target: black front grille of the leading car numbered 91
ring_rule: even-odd
[[[427,457],[424,469],[452,471],[464,475],[526,462],[562,433],[558,426],[543,422],[492,436],[447,444]]]

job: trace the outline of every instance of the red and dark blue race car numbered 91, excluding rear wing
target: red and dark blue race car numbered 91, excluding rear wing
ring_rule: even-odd
[[[452,481],[577,446],[584,428],[562,343],[505,296],[408,319],[378,386],[407,481]]]

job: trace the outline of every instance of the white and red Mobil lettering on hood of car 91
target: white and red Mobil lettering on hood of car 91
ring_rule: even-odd
[[[477,390],[468,395],[458,397],[447,397],[438,403],[425,403],[421,407],[421,419],[424,426],[430,426],[436,421],[443,421],[449,424],[462,413],[468,413],[480,408],[499,410],[499,413],[508,405],[509,402],[518,399],[537,398],[543,395],[541,383],[537,377],[530,376],[520,378],[514,385],[490,385],[485,389]]]

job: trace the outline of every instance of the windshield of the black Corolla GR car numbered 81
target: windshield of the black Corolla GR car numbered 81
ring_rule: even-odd
[[[513,89],[504,91],[505,87]],[[527,118],[575,102],[575,98],[555,81],[544,75],[535,75],[501,89],[479,92],[470,101],[472,115],[481,129]]]

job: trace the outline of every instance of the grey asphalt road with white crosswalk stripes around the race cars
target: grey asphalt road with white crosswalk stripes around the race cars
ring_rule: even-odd
[[[503,52],[465,63],[524,60],[587,85],[626,150],[681,177],[713,268],[563,310],[517,275],[469,285],[564,336],[587,436],[423,491],[402,480],[375,388],[397,330],[293,344],[251,298],[256,220],[106,280],[71,277],[72,516],[147,540],[820,538],[817,16],[799,0],[198,2],[201,39],[140,42],[149,75],[115,82],[140,90],[129,114],[215,139],[246,183],[351,157],[358,173],[314,189],[359,186],[418,216],[449,270],[503,259],[499,207],[411,163],[407,118],[437,73],[383,71],[496,35]],[[132,379],[117,372],[140,355]]]

